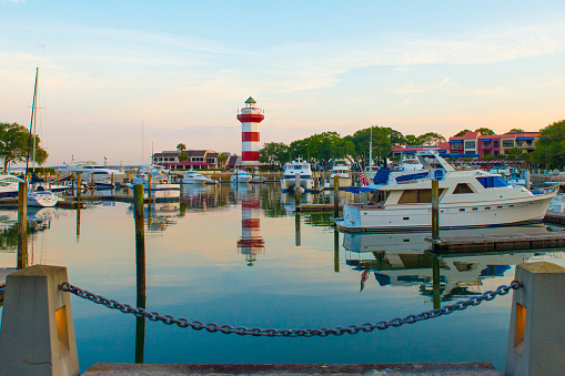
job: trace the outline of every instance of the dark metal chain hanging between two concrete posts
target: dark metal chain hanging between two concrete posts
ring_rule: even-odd
[[[417,315],[408,315],[404,318],[393,318],[391,321],[381,321],[377,323],[365,323],[363,325],[350,325],[346,327],[336,326],[334,328],[320,328],[320,329],[262,329],[259,327],[248,328],[245,326],[238,326],[233,327],[231,325],[218,325],[214,323],[211,324],[204,324],[200,321],[193,321],[190,322],[188,318],[174,318],[171,315],[160,315],[158,312],[149,312],[143,308],[134,308],[129,304],[121,304],[115,301],[110,301],[101,295],[94,295],[85,289],[75,287],[69,283],[63,283],[59,286],[60,289],[64,292],[72,293],[77,296],[80,296],[82,298],[89,299],[91,302],[94,302],[97,304],[105,305],[107,307],[111,309],[118,309],[125,314],[133,314],[137,317],[147,317],[152,322],[162,322],[167,325],[176,324],[179,327],[190,327],[194,331],[202,331],[206,329],[210,333],[223,333],[223,334],[232,334],[235,333],[238,335],[252,335],[255,337],[259,336],[266,336],[266,337],[313,337],[313,336],[320,336],[320,337],[326,337],[330,334],[341,336],[345,333],[347,334],[357,334],[360,332],[370,333],[374,329],[384,331],[391,326],[398,327],[404,324],[414,324],[424,319],[435,318],[443,315],[448,315],[455,311],[463,311],[467,308],[468,306],[475,306],[483,303],[483,301],[492,301],[498,295],[506,295],[509,293],[511,289],[518,289],[522,287],[522,284],[517,281],[513,281],[509,286],[502,285],[498,288],[493,291],[487,291],[483,295],[474,296],[467,301],[460,301],[455,304],[447,305],[442,308],[432,309],[427,312],[423,312]]]

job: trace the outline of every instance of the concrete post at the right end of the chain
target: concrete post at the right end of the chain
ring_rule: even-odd
[[[516,265],[504,375],[561,375],[565,369],[565,268]]]

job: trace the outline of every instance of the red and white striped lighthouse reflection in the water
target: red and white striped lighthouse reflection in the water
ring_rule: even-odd
[[[256,190],[259,191],[259,190]],[[241,200],[241,238],[238,253],[245,255],[249,266],[253,266],[258,255],[265,251],[265,241],[261,237],[260,195],[249,184],[239,185],[236,197]]]

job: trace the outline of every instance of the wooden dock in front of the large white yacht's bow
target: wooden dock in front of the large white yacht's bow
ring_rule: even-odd
[[[440,237],[437,241],[425,237],[426,242],[435,245],[436,253],[565,248],[565,231],[480,236],[441,236],[440,232]]]

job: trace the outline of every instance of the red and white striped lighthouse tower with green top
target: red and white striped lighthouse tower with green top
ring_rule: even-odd
[[[238,114],[241,122],[241,163],[259,164],[259,123],[265,119],[263,110],[255,106],[253,98],[245,101],[245,106]]]

